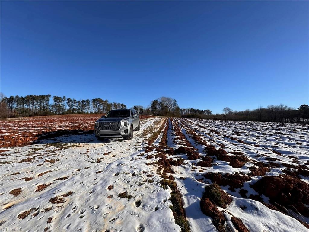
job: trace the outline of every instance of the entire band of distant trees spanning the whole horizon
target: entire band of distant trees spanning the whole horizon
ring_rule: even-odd
[[[109,102],[101,98],[75,100],[69,97],[52,97],[51,95],[27,95],[25,97],[1,95],[1,118],[44,116],[60,114],[105,114],[113,109],[126,109],[123,103]],[[211,110],[193,108],[181,109],[177,101],[171,97],[160,97],[144,107],[135,105],[132,108],[139,114],[155,116],[174,116],[185,118],[203,118],[218,120],[240,120],[259,122],[298,122],[309,123],[309,106],[301,105],[298,109],[280,104],[259,107],[255,110],[236,111],[229,107],[222,110],[222,114],[212,114]]]

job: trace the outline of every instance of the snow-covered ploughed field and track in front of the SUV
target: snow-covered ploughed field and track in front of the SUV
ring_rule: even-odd
[[[129,141],[65,135],[6,149],[2,228],[309,231],[309,135],[299,124],[153,117]],[[213,182],[231,197],[216,207],[219,223],[201,210]]]

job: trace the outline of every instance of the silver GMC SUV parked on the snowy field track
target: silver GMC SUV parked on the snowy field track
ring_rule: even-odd
[[[132,139],[133,131],[139,131],[139,116],[136,110],[110,110],[95,121],[95,137]]]

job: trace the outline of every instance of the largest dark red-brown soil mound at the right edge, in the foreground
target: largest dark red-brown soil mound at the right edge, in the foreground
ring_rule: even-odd
[[[277,208],[282,208],[280,205],[293,211],[296,208],[303,216],[309,217],[306,207],[309,204],[309,185],[298,178],[289,175],[264,176],[252,188],[269,197],[269,202]]]

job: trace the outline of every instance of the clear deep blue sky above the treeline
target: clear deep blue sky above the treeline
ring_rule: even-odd
[[[1,92],[167,96],[221,113],[309,98],[308,1],[1,1]]]

